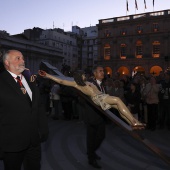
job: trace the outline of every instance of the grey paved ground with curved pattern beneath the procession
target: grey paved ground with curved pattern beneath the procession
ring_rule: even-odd
[[[85,124],[49,118],[50,136],[42,145],[41,170],[94,170],[86,156]],[[170,131],[142,131],[143,135],[170,156]],[[98,154],[103,170],[168,170],[170,166],[146,146],[114,124],[107,125],[106,139]],[[3,170],[0,161],[0,170]]]

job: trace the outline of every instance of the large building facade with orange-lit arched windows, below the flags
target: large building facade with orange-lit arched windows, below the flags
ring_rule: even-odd
[[[170,10],[99,20],[98,63],[119,72],[159,75],[169,67]]]

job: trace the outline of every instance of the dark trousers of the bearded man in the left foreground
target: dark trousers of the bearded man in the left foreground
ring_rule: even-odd
[[[4,152],[3,162],[5,170],[40,170],[41,147],[30,146],[20,152]]]

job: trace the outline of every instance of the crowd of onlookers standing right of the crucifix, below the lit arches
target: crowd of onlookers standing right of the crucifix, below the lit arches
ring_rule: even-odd
[[[161,71],[158,76],[137,73],[134,77],[123,76],[115,80],[106,79],[109,92],[120,97],[131,113],[147,129],[170,129],[170,71]],[[112,85],[111,85],[112,84]],[[117,93],[115,93],[117,91]]]

